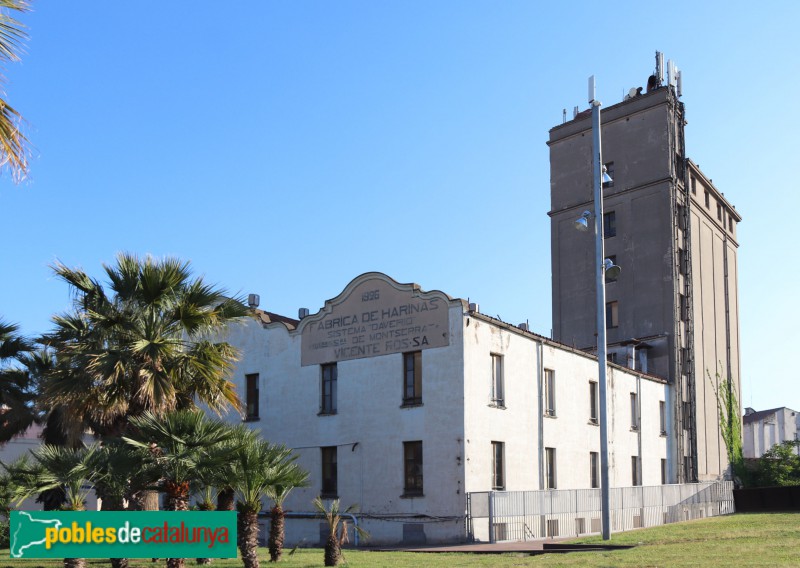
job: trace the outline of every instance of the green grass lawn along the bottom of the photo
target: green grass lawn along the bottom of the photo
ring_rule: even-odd
[[[602,542],[598,537],[573,542]],[[427,554],[346,550],[347,566],[358,568],[416,566],[800,566],[800,514],[737,514],[663,527],[613,534],[610,544],[635,544],[636,548],[614,552],[580,552],[524,556],[519,554]],[[322,550],[300,549],[284,555],[280,566],[311,568],[323,565]],[[262,566],[268,568],[266,549]],[[90,567],[109,566],[107,561],[88,561]],[[150,561],[132,561],[131,566],[163,566]],[[60,567],[60,561],[11,561],[8,550],[0,556],[0,567]],[[187,567],[195,566],[187,560]],[[213,568],[241,567],[239,560],[214,560]]]

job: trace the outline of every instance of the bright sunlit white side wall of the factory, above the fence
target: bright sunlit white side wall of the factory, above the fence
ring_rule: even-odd
[[[468,491],[492,489],[492,441],[506,444],[506,490],[545,488],[545,448],[556,450],[557,488],[591,487],[589,453],[600,451],[599,425],[589,419],[589,381],[597,381],[596,359],[477,317],[465,324],[464,335]],[[492,353],[504,357],[505,409],[493,407],[489,401]],[[544,415],[544,369],[554,372],[555,416]],[[639,430],[631,429],[632,392],[639,393]],[[658,403],[666,400],[666,395],[663,382],[609,366],[612,486],[631,485],[632,456],[641,457],[642,484],[661,483],[667,439],[660,433]]]

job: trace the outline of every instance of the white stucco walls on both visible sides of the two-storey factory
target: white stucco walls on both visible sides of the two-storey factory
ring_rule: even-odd
[[[471,313],[460,300],[447,306],[449,345],[422,351],[422,405],[410,408],[402,407],[401,353],[339,361],[337,413],[321,416],[321,366],[301,365],[302,323],[297,330],[257,321],[230,329],[228,341],[242,351],[234,380],[243,397],[245,375],[259,374],[259,419],[249,426],[294,448],[310,473],[310,486],[293,492],[288,510],[311,511],[321,489],[323,446],[338,447],[338,496],[343,506],[359,505],[374,544],[402,541],[404,525],[421,527],[428,543],[462,540],[465,493],[492,489],[492,442],[504,443],[506,490],[544,487],[545,447],[556,448],[559,489],[590,487],[589,452],[599,451],[599,427],[589,421],[596,359]],[[492,354],[503,358],[503,408],[491,401]],[[552,418],[542,415],[545,368],[556,377]],[[631,456],[641,455],[643,484],[657,485],[667,456],[658,401],[668,400],[667,387],[609,369],[611,484],[630,486]],[[637,389],[641,427],[632,431],[630,393]],[[417,440],[423,443],[424,495],[409,498],[403,496],[403,442]],[[290,520],[287,538],[318,542],[318,521]]]

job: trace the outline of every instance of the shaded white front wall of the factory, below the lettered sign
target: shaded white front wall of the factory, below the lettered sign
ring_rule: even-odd
[[[399,542],[403,524],[416,522],[425,523],[428,542],[463,535],[462,303],[451,302],[448,310],[449,346],[421,353],[421,406],[402,407],[403,356],[391,353],[337,363],[334,415],[319,415],[321,366],[301,366],[299,330],[257,321],[229,330],[227,340],[242,351],[234,374],[242,397],[245,375],[259,374],[259,420],[248,425],[270,442],[295,448],[310,473],[310,486],[292,493],[288,509],[312,511],[322,484],[320,448],[337,446],[338,496],[343,507],[358,504],[372,542]],[[424,494],[419,497],[403,496],[403,442],[409,441],[423,443]],[[297,540],[317,541],[316,522],[290,521],[290,540],[291,525],[303,527],[294,535]]]

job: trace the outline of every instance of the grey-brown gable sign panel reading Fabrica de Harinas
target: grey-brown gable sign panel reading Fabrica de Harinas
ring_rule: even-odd
[[[444,298],[420,297],[410,287],[398,290],[384,280],[365,280],[347,297],[335,299],[331,313],[304,322],[301,365],[445,347],[450,344],[449,321]]]

